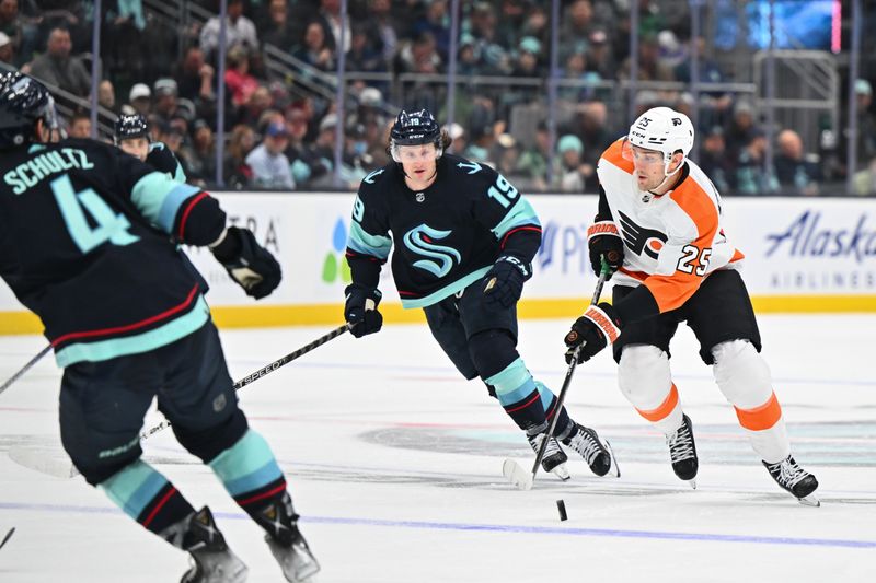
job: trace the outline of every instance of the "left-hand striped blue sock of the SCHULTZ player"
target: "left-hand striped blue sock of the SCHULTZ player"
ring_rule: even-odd
[[[195,512],[168,478],[141,459],[125,466],[97,487],[125,514],[160,536],[165,528]]]

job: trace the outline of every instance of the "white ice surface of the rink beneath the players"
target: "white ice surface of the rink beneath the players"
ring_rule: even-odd
[[[612,442],[621,478],[596,478],[575,460],[569,482],[540,475],[531,491],[502,476],[507,456],[532,463],[521,433],[483,384],[458,375],[425,326],[345,335],[240,396],[286,471],[322,583],[876,581],[876,316],[760,323],[794,453],[821,482],[819,509],[769,478],[683,326],[672,365],[696,430],[695,491],[621,396],[608,353],[578,369],[567,405]],[[521,355],[555,392],[568,324],[521,323]],[[224,331],[232,376],[330,329]],[[0,338],[0,381],[44,342]],[[178,581],[185,555],[102,492],[7,455],[13,447],[64,459],[59,378],[49,357],[0,395],[0,538],[16,527],[0,550],[0,582]],[[150,413],[146,424],[158,420]],[[145,451],[195,506],[214,509],[251,582],[283,581],[261,530],[171,431]]]

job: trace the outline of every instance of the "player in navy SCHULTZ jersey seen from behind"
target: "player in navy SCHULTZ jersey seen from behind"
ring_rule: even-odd
[[[250,231],[227,228],[207,193],[108,144],[51,143],[55,119],[41,83],[0,77],[0,276],[41,317],[64,369],[65,450],[90,485],[191,553],[183,582],[244,581],[246,567],[209,509],[195,510],[140,458],[139,431],[157,398],[178,442],[267,532],[285,576],[306,580],[319,565],[283,471],[238,408],[209,308],[176,244],[208,246],[256,299],[279,284],[279,265]]]

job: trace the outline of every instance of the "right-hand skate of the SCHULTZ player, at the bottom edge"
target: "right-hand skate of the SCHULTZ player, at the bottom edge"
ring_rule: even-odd
[[[298,514],[288,492],[281,501],[263,509],[255,520],[268,532],[265,541],[287,581],[304,583],[320,571],[320,563],[298,529]]]

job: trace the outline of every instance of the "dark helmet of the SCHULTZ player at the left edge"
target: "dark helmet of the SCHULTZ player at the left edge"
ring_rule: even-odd
[[[36,123],[58,128],[55,100],[32,77],[18,71],[0,75],[0,148],[16,148],[36,139]]]

